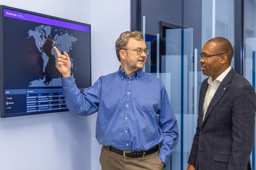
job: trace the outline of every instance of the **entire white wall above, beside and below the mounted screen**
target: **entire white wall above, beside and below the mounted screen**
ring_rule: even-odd
[[[1,0],[1,5],[91,24],[92,82],[118,69],[114,43],[130,29],[130,0]],[[99,170],[96,114],[0,119],[1,170]]]

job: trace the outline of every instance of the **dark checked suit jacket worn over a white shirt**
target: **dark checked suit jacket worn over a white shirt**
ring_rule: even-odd
[[[251,170],[255,91],[232,68],[212,97],[203,122],[207,80],[201,85],[198,125],[188,163],[196,170]]]

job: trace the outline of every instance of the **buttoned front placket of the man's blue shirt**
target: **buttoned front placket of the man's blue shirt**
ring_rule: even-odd
[[[127,78],[127,86],[125,91],[125,122],[124,122],[124,142],[126,150],[131,150],[131,142],[129,135],[129,119],[131,112],[131,79]]]

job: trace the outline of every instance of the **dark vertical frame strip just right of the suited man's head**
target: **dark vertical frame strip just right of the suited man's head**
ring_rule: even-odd
[[[243,76],[244,0],[235,0],[235,71]]]

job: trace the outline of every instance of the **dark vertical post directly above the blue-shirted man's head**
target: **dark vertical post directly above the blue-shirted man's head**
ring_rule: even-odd
[[[131,31],[141,30],[141,0],[131,0]]]

